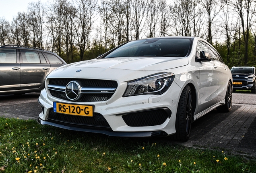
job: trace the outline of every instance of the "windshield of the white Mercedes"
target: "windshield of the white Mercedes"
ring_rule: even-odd
[[[131,41],[120,46],[105,58],[127,56],[184,57],[188,54],[190,38],[151,38]]]

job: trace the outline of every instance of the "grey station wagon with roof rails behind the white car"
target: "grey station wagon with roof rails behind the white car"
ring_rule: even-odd
[[[40,92],[47,74],[66,62],[41,48],[0,46],[0,95]]]

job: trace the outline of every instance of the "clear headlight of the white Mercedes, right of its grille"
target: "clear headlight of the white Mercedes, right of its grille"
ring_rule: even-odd
[[[161,95],[173,82],[175,74],[165,72],[132,80],[127,83],[127,89],[123,97],[134,95]]]

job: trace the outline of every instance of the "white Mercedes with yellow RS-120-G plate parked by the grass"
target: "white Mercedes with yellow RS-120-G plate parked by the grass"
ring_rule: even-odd
[[[232,75],[202,38],[148,38],[57,68],[38,101],[42,125],[187,141],[193,121],[230,111]]]

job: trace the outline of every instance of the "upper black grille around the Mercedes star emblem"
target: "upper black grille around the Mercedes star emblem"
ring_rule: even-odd
[[[98,79],[75,79],[75,78],[51,78],[49,84],[66,87],[66,85],[72,80],[79,80],[83,83],[84,87],[106,87],[106,88],[117,88],[118,83],[114,80],[98,80]],[[50,90],[53,97],[58,99],[70,101],[66,97],[65,92]],[[86,93],[82,94],[81,99],[74,102],[99,102],[107,101],[112,97],[114,93]]]

